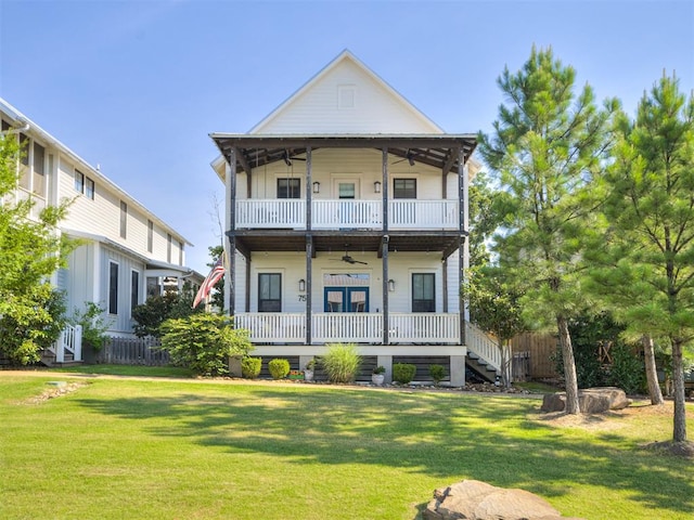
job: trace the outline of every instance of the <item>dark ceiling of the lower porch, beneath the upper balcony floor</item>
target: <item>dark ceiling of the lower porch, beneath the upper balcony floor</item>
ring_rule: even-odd
[[[339,233],[316,232],[313,252],[376,252],[381,257],[381,232]],[[306,232],[287,232],[273,230],[254,230],[248,233],[236,231],[236,247],[244,253],[257,251],[306,251]],[[455,232],[417,232],[388,233],[388,251],[430,251],[449,256],[459,247],[459,233]]]

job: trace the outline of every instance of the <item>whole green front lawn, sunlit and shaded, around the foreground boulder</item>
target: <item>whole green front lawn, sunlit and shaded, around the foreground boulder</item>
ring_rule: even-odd
[[[81,386],[35,399],[56,379]],[[692,518],[692,461],[640,448],[671,437],[671,411],[576,422],[539,404],[0,372],[0,518],[413,520],[462,479],[588,520]]]

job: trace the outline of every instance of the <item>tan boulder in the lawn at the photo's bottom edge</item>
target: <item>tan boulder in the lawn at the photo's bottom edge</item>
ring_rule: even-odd
[[[547,500],[524,490],[463,480],[434,492],[425,520],[566,520]]]

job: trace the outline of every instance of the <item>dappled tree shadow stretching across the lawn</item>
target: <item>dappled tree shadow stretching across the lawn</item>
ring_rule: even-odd
[[[534,416],[535,400],[303,386],[200,393],[178,387],[172,393],[76,401],[95,413],[141,420],[154,435],[230,453],[462,476],[548,497],[569,493],[576,483],[626,490],[646,508],[694,512],[687,461],[639,450],[618,432],[553,428]]]

